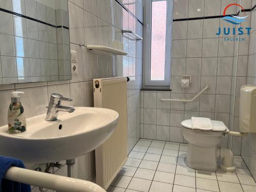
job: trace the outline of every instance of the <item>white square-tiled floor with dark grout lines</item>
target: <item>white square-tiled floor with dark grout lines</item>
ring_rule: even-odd
[[[107,191],[255,192],[256,183],[240,156],[236,173],[208,172],[184,163],[187,144],[140,139]]]

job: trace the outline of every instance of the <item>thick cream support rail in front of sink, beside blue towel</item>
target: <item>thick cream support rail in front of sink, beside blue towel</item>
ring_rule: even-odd
[[[105,192],[99,185],[90,181],[36,172],[35,170],[19,167],[10,167],[4,178],[62,192]]]

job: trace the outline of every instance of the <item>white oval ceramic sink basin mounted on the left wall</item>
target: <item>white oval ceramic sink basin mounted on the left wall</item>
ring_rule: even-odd
[[[75,108],[73,113],[58,112],[58,120],[46,115],[27,119],[27,131],[9,134],[0,127],[0,155],[25,163],[46,163],[73,159],[94,150],[114,132],[118,113],[103,108]]]

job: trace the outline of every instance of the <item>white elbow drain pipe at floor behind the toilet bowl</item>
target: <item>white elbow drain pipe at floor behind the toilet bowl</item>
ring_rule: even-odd
[[[234,173],[236,172],[236,166],[234,166],[234,155],[229,148],[217,148],[217,157],[222,159],[222,163],[220,164],[221,170],[224,172]]]

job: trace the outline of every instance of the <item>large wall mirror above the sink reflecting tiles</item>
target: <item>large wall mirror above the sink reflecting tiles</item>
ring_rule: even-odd
[[[71,79],[68,0],[0,0],[0,84]]]

